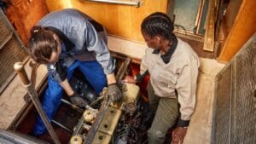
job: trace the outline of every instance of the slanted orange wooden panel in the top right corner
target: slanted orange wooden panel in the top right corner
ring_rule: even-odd
[[[243,0],[236,16],[236,20],[230,30],[230,34],[224,43],[224,47],[218,57],[220,62],[229,61],[241,46],[256,32],[256,1]]]

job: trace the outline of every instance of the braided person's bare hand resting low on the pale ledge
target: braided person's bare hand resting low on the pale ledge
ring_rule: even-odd
[[[188,128],[177,127],[172,132],[172,143],[171,144],[182,144],[183,139],[187,133]]]

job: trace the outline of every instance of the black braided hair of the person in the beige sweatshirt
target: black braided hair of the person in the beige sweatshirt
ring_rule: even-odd
[[[166,39],[172,39],[173,23],[172,20],[164,13],[155,12],[148,15],[141,25],[142,32],[150,37],[161,35]]]

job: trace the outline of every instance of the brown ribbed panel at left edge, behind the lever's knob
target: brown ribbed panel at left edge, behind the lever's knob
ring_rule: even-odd
[[[0,94],[15,76],[14,64],[23,61],[26,52],[9,20],[0,9]]]

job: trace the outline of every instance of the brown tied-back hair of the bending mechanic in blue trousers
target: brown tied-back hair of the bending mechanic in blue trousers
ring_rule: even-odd
[[[54,37],[55,32],[42,26],[33,26],[31,37],[27,43],[27,52],[38,63],[48,63],[47,60],[53,52],[57,51],[58,42]]]

